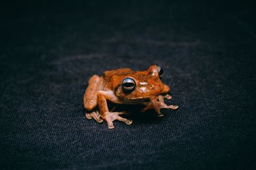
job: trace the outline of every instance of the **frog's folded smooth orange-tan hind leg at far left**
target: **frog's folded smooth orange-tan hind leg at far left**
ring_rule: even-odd
[[[84,108],[88,111],[93,110],[97,106],[97,92],[103,88],[103,78],[94,74],[90,80],[88,87],[84,93]]]

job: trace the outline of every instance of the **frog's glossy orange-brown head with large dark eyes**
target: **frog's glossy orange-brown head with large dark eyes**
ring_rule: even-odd
[[[156,65],[150,66],[147,71],[125,74],[116,87],[115,94],[125,101],[140,103],[163,92],[164,83],[161,81],[163,75],[163,69]]]

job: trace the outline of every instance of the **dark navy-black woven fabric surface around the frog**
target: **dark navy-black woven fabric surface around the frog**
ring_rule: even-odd
[[[1,4],[1,169],[253,169],[253,4]],[[93,74],[158,64],[177,111],[86,120]],[[131,109],[131,107],[129,107]]]

